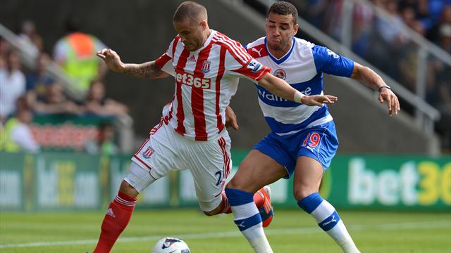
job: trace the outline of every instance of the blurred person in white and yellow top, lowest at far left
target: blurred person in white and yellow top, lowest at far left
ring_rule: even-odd
[[[27,106],[25,97],[19,98],[16,116],[8,119],[4,128],[0,129],[0,150],[6,152],[39,151],[40,147],[30,130],[32,119],[32,110]]]

